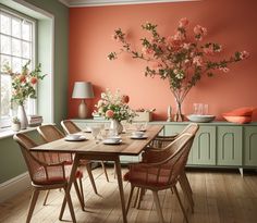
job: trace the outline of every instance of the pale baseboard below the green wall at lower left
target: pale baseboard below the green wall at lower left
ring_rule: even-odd
[[[0,203],[24,191],[29,185],[30,178],[28,172],[0,184]]]

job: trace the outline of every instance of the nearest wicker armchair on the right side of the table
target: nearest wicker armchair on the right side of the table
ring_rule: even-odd
[[[174,191],[180,207],[183,211],[185,221],[188,222],[185,209],[176,189],[176,183],[184,173],[184,168],[194,140],[193,134],[183,134],[173,140],[166,150],[162,151],[162,160],[155,163],[134,163],[130,165],[130,171],[124,175],[124,179],[131,183],[131,193],[127,201],[126,212],[128,211],[133,191],[135,187],[149,189],[152,191],[157,213],[161,223],[164,222],[158,191],[171,189]]]

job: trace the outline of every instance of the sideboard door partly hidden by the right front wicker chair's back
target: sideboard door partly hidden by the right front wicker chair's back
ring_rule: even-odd
[[[216,164],[216,126],[200,126],[192,147],[193,162],[196,165]]]

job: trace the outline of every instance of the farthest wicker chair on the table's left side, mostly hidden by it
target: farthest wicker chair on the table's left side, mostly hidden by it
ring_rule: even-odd
[[[63,120],[61,122],[61,125],[62,125],[62,128],[65,132],[65,134],[74,134],[74,133],[82,132],[82,129],[74,122],[72,122],[71,120]],[[90,164],[90,161],[89,160],[82,160],[82,164],[83,163],[88,165],[88,164]],[[106,175],[106,178],[109,182],[109,177],[108,177],[108,174],[107,174],[105,163],[103,163],[103,161],[100,161],[100,163],[101,163],[101,168],[103,170],[103,173]]]

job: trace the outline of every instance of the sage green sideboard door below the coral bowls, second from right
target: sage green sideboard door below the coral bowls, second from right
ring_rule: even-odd
[[[241,126],[218,126],[218,165],[243,164],[242,132]]]

